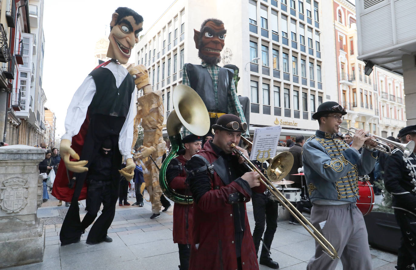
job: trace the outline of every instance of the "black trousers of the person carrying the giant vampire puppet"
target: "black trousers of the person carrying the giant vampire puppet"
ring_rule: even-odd
[[[99,243],[104,240],[107,235],[107,230],[114,219],[116,212],[116,198],[111,199],[111,181],[97,181],[87,180],[87,214],[81,222],[82,229],[85,230],[94,219],[100,210],[101,203],[104,208],[97,221],[92,225],[88,233],[87,241],[92,243]]]

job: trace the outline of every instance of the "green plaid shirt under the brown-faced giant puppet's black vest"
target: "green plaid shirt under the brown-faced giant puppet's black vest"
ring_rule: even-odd
[[[217,104],[217,106],[218,106],[218,89],[217,89],[217,86],[218,86],[218,74],[220,73],[220,67],[217,64],[211,66],[211,65],[208,65],[204,62],[201,62],[201,65],[202,65],[202,67],[207,68],[208,73],[210,74],[210,76],[212,78],[213,85],[214,85],[215,104]],[[188,73],[186,71],[186,65],[183,65],[182,84],[185,84],[185,85],[188,85],[189,87],[191,87],[191,83],[189,82],[189,78],[188,78]],[[228,113],[229,114],[235,114],[235,115],[240,117],[242,122],[246,122],[245,117],[244,117],[243,109],[241,108],[241,104],[238,101],[237,91],[235,90],[234,79],[232,80],[231,85],[230,85],[230,90],[228,91],[227,106],[228,106]],[[191,134],[191,133],[187,129],[183,128],[183,136],[187,136],[189,134]],[[245,134],[243,134],[243,135],[245,137],[249,137],[250,133],[247,130],[245,132]]]

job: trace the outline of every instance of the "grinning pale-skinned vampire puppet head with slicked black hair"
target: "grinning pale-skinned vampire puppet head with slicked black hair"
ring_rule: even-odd
[[[110,22],[110,45],[107,57],[126,64],[131,49],[139,42],[139,32],[143,29],[143,17],[128,7],[119,7],[113,13]]]

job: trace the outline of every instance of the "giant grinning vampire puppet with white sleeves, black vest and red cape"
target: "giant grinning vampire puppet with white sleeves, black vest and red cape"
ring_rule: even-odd
[[[62,245],[80,240],[96,218],[101,203],[104,209],[89,231],[87,244],[111,242],[107,229],[114,218],[119,173],[131,179],[135,168],[131,145],[136,92],[133,77],[121,64],[128,62],[131,49],[139,42],[142,25],[143,17],[133,10],[116,9],[111,18],[107,52],[111,60],[87,76],[69,104],[66,133],[59,149],[63,158],[52,192],[58,199],[72,202],[59,234]],[[103,163],[103,152],[111,154],[109,169],[108,163]],[[126,168],[120,170],[123,159]],[[103,169],[108,174],[103,176]],[[68,186],[68,179],[72,178],[76,179],[75,188]],[[85,182],[88,184],[84,185]],[[84,198],[87,198],[88,213],[81,222],[77,201]]]

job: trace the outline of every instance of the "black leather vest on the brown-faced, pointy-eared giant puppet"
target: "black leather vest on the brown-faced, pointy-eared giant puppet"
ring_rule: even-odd
[[[220,67],[217,85],[218,104],[215,104],[213,79],[208,69],[196,64],[185,65],[190,86],[199,94],[208,111],[228,113],[228,91],[233,83],[233,71]]]

